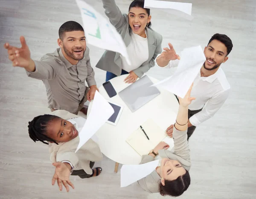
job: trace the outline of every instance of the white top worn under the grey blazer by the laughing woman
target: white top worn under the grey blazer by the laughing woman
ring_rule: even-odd
[[[127,46],[127,53],[131,61],[129,65],[125,57],[122,57],[122,69],[130,72],[139,68],[148,60],[148,36],[145,31],[146,38],[140,37],[138,34],[131,33],[131,43]]]

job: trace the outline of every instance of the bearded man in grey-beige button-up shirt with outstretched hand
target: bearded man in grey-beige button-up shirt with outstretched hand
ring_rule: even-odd
[[[49,108],[66,110],[73,114],[86,114],[84,102],[94,98],[96,81],[90,64],[84,29],[75,21],[68,21],[59,28],[55,52],[44,55],[40,61],[32,60],[25,38],[20,37],[21,48],[6,43],[9,60],[13,66],[26,69],[29,77],[43,80]],[[87,82],[89,88],[85,85]]]

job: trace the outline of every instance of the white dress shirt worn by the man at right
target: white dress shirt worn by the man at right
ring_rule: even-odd
[[[168,65],[160,68],[177,67],[179,60],[171,60]],[[189,110],[195,111],[203,108],[202,111],[190,117],[189,121],[192,125],[198,126],[202,122],[214,116],[226,101],[230,91],[230,84],[224,71],[219,68],[215,74],[209,77],[201,77],[201,73],[195,78],[191,91],[191,97],[196,99],[189,105]]]

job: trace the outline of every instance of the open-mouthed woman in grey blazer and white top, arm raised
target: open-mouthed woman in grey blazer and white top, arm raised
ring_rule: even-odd
[[[134,0],[128,14],[122,14],[115,0],[102,0],[105,14],[121,35],[127,46],[131,65],[128,65],[120,53],[105,51],[96,67],[107,71],[106,81],[128,74],[127,83],[142,77],[155,64],[162,52],[163,37],[150,28],[150,9],[144,9],[144,0]]]

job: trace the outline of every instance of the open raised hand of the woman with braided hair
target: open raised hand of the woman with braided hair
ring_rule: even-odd
[[[67,166],[63,162],[55,162],[52,165],[56,167],[55,173],[52,177],[52,185],[54,185],[57,180],[60,190],[62,190],[62,184],[64,185],[67,191],[69,191],[69,185],[74,189],[75,187],[69,179],[69,168],[67,168]]]

